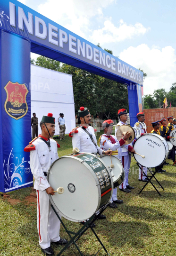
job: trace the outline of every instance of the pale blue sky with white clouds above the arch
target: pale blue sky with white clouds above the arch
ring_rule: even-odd
[[[144,94],[176,82],[176,0],[20,0],[147,73]],[[32,58],[37,55],[31,54]]]

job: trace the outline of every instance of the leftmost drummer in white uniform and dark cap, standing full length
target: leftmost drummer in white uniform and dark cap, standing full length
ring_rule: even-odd
[[[60,221],[50,206],[49,195],[54,196],[54,189],[48,183],[46,176],[50,165],[58,159],[59,144],[51,139],[55,133],[55,118],[49,113],[43,116],[40,122],[42,134],[34,138],[25,152],[30,152],[30,167],[34,175],[34,189],[37,192],[37,229],[39,245],[47,256],[54,255],[50,243],[65,245],[67,240],[60,238]],[[61,216],[60,216],[61,218]]]

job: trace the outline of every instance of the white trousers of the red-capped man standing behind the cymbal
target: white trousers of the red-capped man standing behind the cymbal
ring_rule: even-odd
[[[128,184],[128,174],[130,171],[130,164],[131,164],[131,156],[128,155],[124,155],[124,156],[118,156],[118,159],[121,160],[122,165],[124,167],[125,170],[125,179],[124,182],[119,186],[120,189],[126,189],[126,186],[129,185]]]

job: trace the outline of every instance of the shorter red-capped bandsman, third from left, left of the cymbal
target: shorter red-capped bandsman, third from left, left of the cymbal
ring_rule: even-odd
[[[126,135],[125,136],[123,135],[122,139],[118,141],[116,136],[111,135],[113,130],[113,124],[114,122],[110,119],[103,122],[102,128],[104,130],[104,134],[99,139],[100,146],[103,150],[108,150],[110,148],[113,151],[117,151],[119,147],[124,146],[126,139],[129,138],[131,135],[129,132],[126,132]],[[115,156],[117,157],[117,155]],[[117,208],[116,203],[117,204],[123,203],[123,200],[117,199],[117,188],[114,188],[109,207]]]

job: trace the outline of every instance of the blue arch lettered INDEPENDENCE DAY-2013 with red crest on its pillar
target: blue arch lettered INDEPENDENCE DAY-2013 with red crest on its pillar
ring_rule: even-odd
[[[17,0],[0,2],[0,191],[31,186],[30,53],[126,84],[130,122],[142,111],[143,73]],[[123,108],[123,106],[122,106]]]

